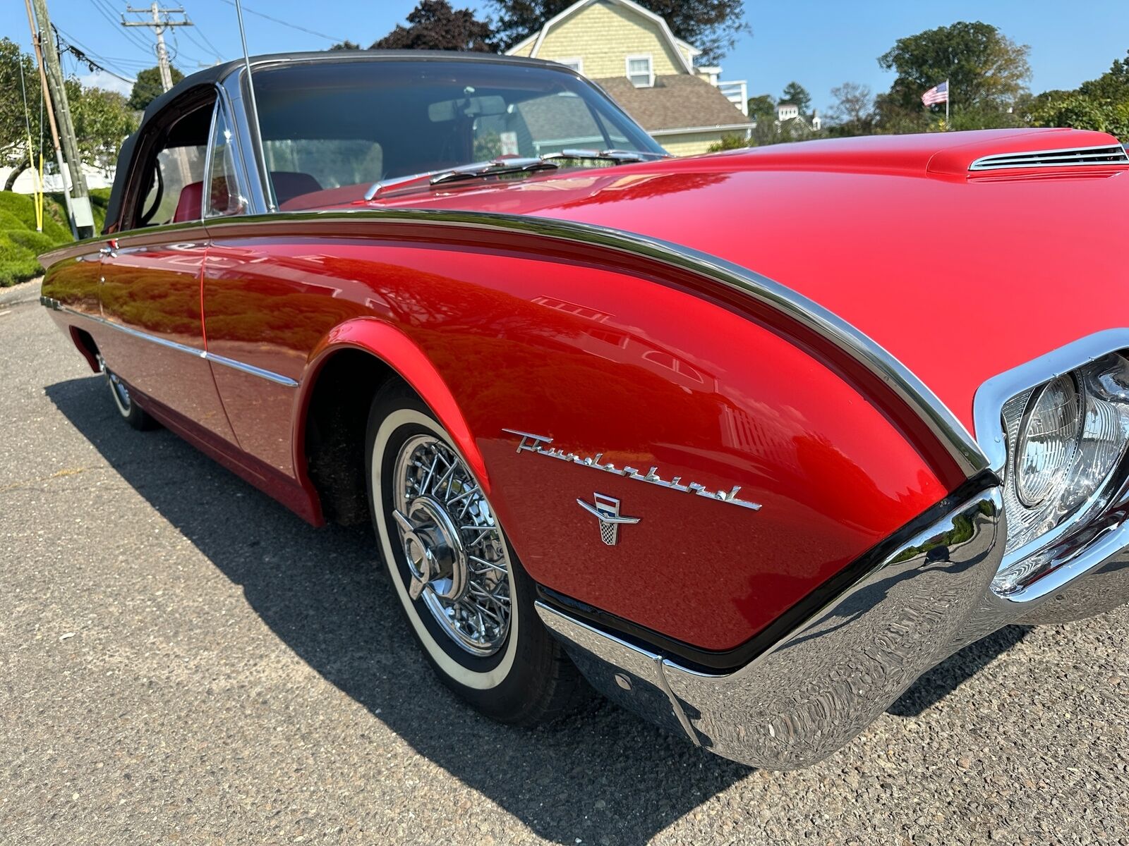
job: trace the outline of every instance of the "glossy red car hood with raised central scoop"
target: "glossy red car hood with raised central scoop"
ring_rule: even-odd
[[[1113,144],[1074,130],[844,139],[412,192],[369,208],[563,219],[728,259],[854,324],[971,432],[984,380],[1129,325],[1129,168],[969,166]]]

